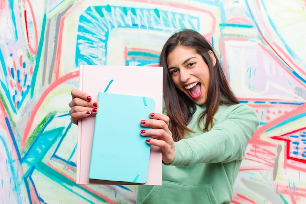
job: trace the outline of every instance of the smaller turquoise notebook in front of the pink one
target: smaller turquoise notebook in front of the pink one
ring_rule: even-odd
[[[150,145],[140,121],[149,119],[154,99],[99,92],[98,103],[89,179],[146,183]]]

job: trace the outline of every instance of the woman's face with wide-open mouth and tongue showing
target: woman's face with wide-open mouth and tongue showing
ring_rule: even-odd
[[[209,54],[216,63],[212,51]],[[209,69],[203,57],[186,46],[177,46],[167,58],[167,65],[177,89],[183,91],[192,101],[202,105],[207,99],[209,85]]]

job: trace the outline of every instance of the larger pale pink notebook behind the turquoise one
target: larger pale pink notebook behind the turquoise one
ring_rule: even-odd
[[[111,86],[108,87],[109,82]],[[155,100],[155,112],[162,113],[162,68],[145,66],[80,66],[79,89],[98,99],[98,93],[145,96]],[[103,104],[99,104],[102,106]],[[148,113],[149,114],[149,113]],[[139,183],[92,180],[89,167],[95,117],[83,118],[78,123],[77,184],[135,185]],[[151,146],[147,182],[143,185],[162,184],[162,154],[158,147]]]

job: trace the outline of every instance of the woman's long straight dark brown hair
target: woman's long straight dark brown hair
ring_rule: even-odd
[[[228,85],[223,69],[210,43],[194,30],[186,29],[175,33],[165,43],[159,59],[160,66],[163,67],[163,94],[166,111],[170,118],[169,129],[174,141],[183,139],[188,132],[193,132],[187,127],[187,124],[196,109],[195,103],[184,92],[175,87],[168,71],[167,57],[177,46],[193,48],[203,57],[209,68],[210,80],[207,90],[206,110],[198,120],[199,126],[206,116],[204,130],[208,131],[214,125],[214,115],[219,105],[239,103]],[[209,50],[214,53],[215,65],[213,65],[208,53]]]

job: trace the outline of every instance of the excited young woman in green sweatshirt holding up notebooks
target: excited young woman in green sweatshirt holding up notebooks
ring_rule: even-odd
[[[240,104],[207,40],[182,30],[165,43],[164,113],[140,121],[142,136],[159,146],[161,186],[139,186],[139,204],[228,204],[248,141],[257,129],[255,111]],[[97,112],[98,104],[72,90],[71,121]]]

